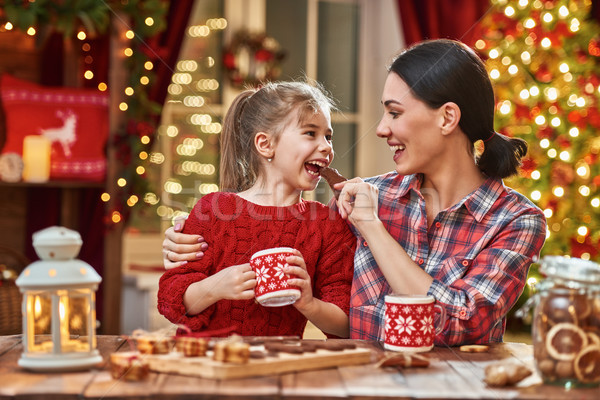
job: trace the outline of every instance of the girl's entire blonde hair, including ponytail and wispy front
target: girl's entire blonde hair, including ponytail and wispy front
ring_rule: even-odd
[[[248,89],[234,100],[223,121],[219,184],[222,191],[250,188],[261,173],[254,146],[258,132],[269,133],[274,143],[292,116],[302,123],[310,115],[329,115],[335,107],[321,85],[306,82],[269,82]],[[296,113],[297,111],[297,113]]]

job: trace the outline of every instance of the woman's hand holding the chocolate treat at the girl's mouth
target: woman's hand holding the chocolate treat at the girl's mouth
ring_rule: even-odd
[[[361,223],[375,221],[379,205],[379,189],[360,178],[334,185],[341,193],[337,200],[340,216],[359,228]]]

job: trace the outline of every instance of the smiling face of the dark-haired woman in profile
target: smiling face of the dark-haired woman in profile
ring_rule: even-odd
[[[377,136],[387,140],[396,171],[401,175],[427,173],[443,151],[443,115],[417,99],[395,73],[388,74],[381,97],[384,113]]]

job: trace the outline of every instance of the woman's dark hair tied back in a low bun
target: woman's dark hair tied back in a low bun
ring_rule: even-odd
[[[398,55],[388,68],[412,94],[437,109],[447,102],[458,105],[459,126],[471,143],[484,141],[477,157],[487,176],[506,178],[517,173],[527,153],[523,139],[494,131],[494,90],[483,61],[465,44],[449,39],[420,42]]]

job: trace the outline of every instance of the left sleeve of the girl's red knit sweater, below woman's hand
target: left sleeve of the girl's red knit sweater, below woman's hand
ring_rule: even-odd
[[[214,222],[210,210],[210,198],[203,197],[194,206],[185,222],[184,233],[201,234],[208,249],[201,260],[190,261],[186,265],[166,271],[158,286],[158,311],[174,324],[184,325],[193,331],[200,331],[208,325],[216,305],[213,304],[196,315],[188,315],[183,303],[187,288],[214,273],[214,246],[211,225]]]

